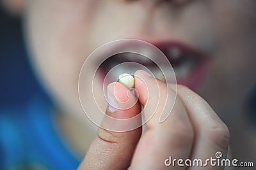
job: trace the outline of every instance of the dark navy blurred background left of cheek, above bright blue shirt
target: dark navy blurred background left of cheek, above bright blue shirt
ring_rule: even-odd
[[[0,108],[22,107],[40,87],[29,66],[20,18],[0,10]]]

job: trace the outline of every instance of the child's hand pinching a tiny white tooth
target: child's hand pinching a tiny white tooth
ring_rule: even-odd
[[[143,71],[135,73],[147,86],[154,85],[155,79],[147,76]],[[136,78],[135,88],[139,93],[139,101],[145,106],[148,96],[154,96],[154,90],[148,91],[145,83]],[[229,132],[227,126],[220,120],[204,99],[186,87],[178,86],[177,99],[170,116],[161,124],[159,117],[164,107],[166,88],[168,95],[175,91],[167,87],[163,81],[158,81],[160,101],[157,111],[148,122],[147,131],[141,136],[141,127],[129,132],[110,132],[99,129],[90,150],[86,154],[79,169],[168,169],[164,162],[169,157],[173,159],[216,159],[215,153],[221,152],[222,158],[227,157]],[[119,89],[118,89],[119,88]],[[127,89],[121,84],[115,90]],[[152,93],[152,94],[150,94]],[[163,99],[164,97],[164,99]],[[153,97],[154,99],[154,97]],[[162,100],[163,99],[163,100]],[[156,97],[156,103],[158,99]],[[107,110],[112,117],[129,118],[140,113],[140,103],[136,103],[129,110],[117,110],[115,113]],[[150,106],[145,110],[145,117]],[[209,162],[208,162],[209,163]],[[182,162],[184,164],[184,162]],[[175,162],[174,169],[188,169],[180,167]],[[205,169],[205,167],[195,167]],[[207,169],[223,169],[211,167]]]

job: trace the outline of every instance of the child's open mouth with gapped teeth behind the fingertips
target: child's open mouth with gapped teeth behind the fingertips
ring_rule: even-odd
[[[204,80],[207,71],[208,57],[206,57],[204,53],[195,50],[188,45],[184,45],[183,43],[173,41],[159,41],[152,43],[152,45],[159,48],[169,60],[173,67],[177,83],[186,85],[194,90],[198,88]],[[152,54],[152,51],[143,46],[132,46],[132,44],[125,46],[127,51],[132,51],[134,48],[136,48],[137,51],[139,48],[144,55],[145,53],[154,55],[154,53]],[[157,59],[156,56],[156,60],[161,60],[161,57]],[[163,69],[165,69],[164,67],[157,66],[154,61],[143,55],[131,52],[118,53],[109,57],[101,64],[100,72],[104,77],[111,69],[113,69],[113,67],[125,62],[136,62],[141,64],[142,66],[147,67],[156,78],[162,81],[165,80],[162,72]],[[137,67],[131,67],[131,65],[126,66],[124,64],[123,66],[118,67],[113,74],[116,74],[115,76],[118,77],[121,73],[134,73],[137,69]]]

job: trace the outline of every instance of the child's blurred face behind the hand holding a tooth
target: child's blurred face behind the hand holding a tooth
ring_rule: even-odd
[[[209,64],[205,76],[196,73],[204,76],[196,89],[218,113],[223,101],[227,106],[228,97],[241,100],[253,85],[255,7],[254,0],[31,0],[26,3],[25,27],[32,62],[61,107],[80,108],[79,71],[95,48],[136,38],[178,41],[205,53]],[[186,57],[175,71],[178,75],[187,70],[183,79],[191,81]]]

